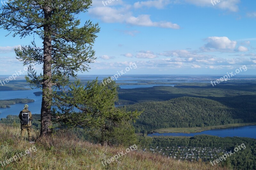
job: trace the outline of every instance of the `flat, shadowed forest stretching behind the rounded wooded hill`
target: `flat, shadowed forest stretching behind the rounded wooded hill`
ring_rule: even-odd
[[[119,89],[119,100],[129,100],[133,102],[148,102],[148,101],[165,101],[178,97],[200,97],[200,98],[219,98],[235,97],[232,100],[239,101],[241,95],[256,96],[256,83],[252,81],[232,82],[212,86],[205,83],[183,83],[181,85],[172,86],[155,86],[149,88],[135,89]],[[214,100],[215,100],[214,99]],[[228,98],[227,98],[228,99]],[[246,100],[245,102],[251,102]],[[230,101],[232,102],[232,101]],[[240,100],[240,102],[243,102]],[[122,104],[122,103],[121,103]]]

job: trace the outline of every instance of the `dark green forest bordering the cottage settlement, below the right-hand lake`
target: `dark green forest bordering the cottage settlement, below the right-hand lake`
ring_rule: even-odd
[[[235,169],[256,169],[256,139],[252,138],[208,135],[198,135],[195,137],[153,137],[151,147],[221,147],[226,148],[226,151],[234,151],[235,147],[243,143],[246,148],[229,157],[231,164]]]

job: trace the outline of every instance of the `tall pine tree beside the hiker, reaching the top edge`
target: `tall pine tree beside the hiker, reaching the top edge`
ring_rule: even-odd
[[[16,58],[30,65],[26,80],[43,90],[40,136],[52,132],[52,102],[58,99],[58,90],[68,85],[69,77],[77,71],[87,71],[93,62],[92,44],[98,24],[86,21],[83,26],[76,19],[78,14],[91,6],[92,0],[15,0],[1,7],[0,26],[13,37],[33,35],[28,46],[15,48]],[[43,65],[43,74],[37,74],[31,66]]]

